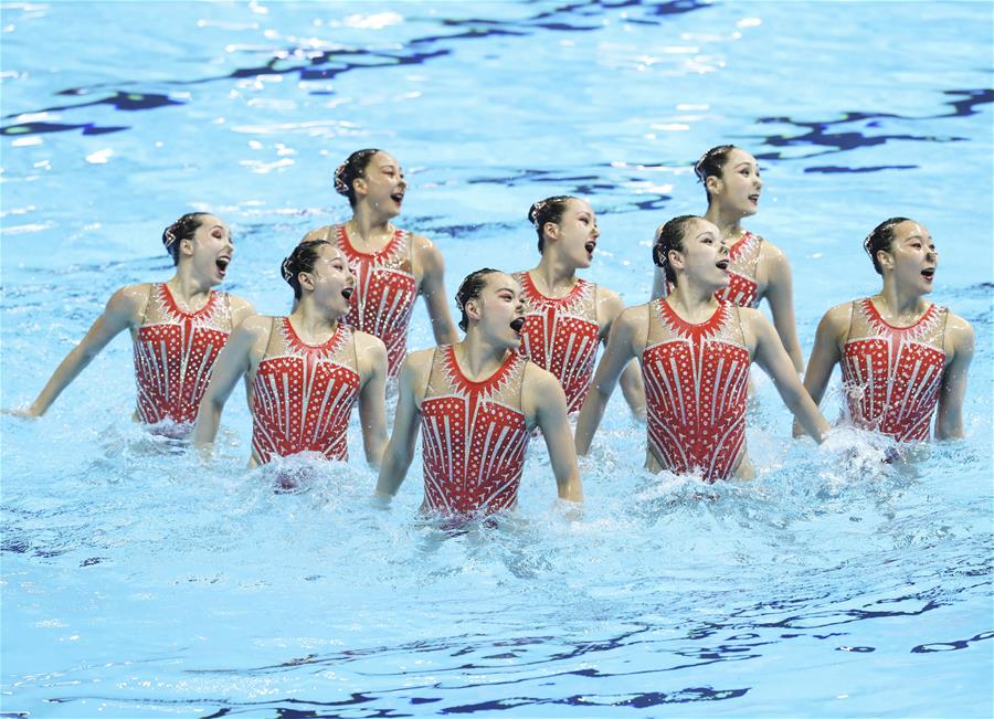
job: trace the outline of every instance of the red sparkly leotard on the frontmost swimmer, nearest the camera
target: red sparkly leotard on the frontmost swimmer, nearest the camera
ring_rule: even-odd
[[[466,379],[455,350],[435,350],[421,403],[424,508],[491,514],[514,507],[529,432],[521,411],[528,364],[511,352],[489,379]]]

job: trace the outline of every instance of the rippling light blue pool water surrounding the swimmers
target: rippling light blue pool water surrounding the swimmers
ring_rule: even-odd
[[[38,422],[3,416],[3,717],[922,716],[992,706],[990,3],[2,4],[2,393],[30,401],[123,284],[165,279],[182,212],[232,224],[228,289],[285,311],[278,265],[346,219],[331,171],[384,147],[450,292],[536,262],[529,204],[591,200],[590,278],[647,298],[647,244],[704,211],[690,170],[761,159],[748,226],[790,255],[805,351],[875,292],[861,237],[909,215],[933,298],[977,336],[966,438],[881,465],[790,442],[757,378],[748,485],[641,469],[614,398],[554,505],[447,537],[359,466],[274,494],[229,403],[201,466],[128,419],[121,337]],[[423,309],[411,345],[427,346]],[[829,399],[826,414],[838,414]],[[352,456],[361,456],[356,427]]]

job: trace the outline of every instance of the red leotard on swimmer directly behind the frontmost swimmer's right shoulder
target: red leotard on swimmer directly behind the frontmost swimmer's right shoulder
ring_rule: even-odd
[[[556,298],[541,294],[527,272],[514,277],[527,303],[519,351],[556,376],[567,395],[567,410],[579,412],[598,353],[598,286],[577,279],[567,296]]]

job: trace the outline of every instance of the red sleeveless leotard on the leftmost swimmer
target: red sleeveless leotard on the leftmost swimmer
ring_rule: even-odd
[[[229,335],[228,293],[211,292],[203,307],[188,313],[165,283],[152,285],[134,342],[138,419],[146,424],[193,423]]]

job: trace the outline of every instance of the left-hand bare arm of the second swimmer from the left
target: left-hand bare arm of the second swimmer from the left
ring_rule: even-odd
[[[271,317],[256,315],[245,319],[231,334],[218,355],[193,427],[193,446],[202,453],[210,454],[214,437],[218,436],[224,403],[242,376],[251,372],[258,363],[258,358],[262,357],[269,340],[272,326]]]

